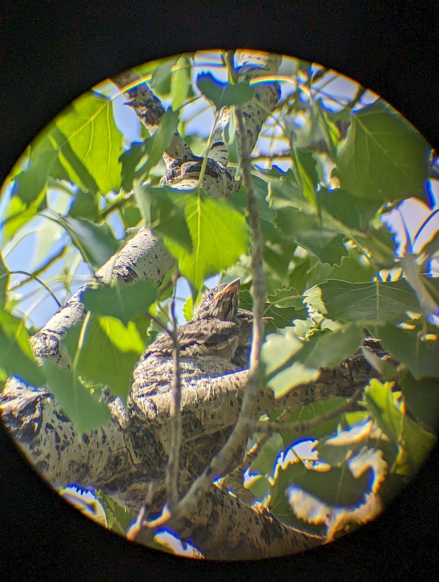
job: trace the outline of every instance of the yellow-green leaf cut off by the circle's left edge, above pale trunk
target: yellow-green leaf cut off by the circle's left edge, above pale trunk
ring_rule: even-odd
[[[3,310],[0,310],[0,368],[7,377],[16,376],[34,386],[44,385],[24,322]]]

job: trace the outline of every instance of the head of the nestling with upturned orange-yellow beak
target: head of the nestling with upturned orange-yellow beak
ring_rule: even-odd
[[[194,320],[216,318],[222,321],[236,321],[239,304],[240,279],[222,283],[209,289],[203,295],[194,311]]]

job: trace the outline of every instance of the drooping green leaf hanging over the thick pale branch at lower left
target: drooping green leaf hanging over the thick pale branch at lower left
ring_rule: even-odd
[[[43,370],[55,400],[79,434],[108,423],[110,410],[107,404],[99,402],[97,396],[78,381],[72,370],[57,368],[50,360],[44,360]]]

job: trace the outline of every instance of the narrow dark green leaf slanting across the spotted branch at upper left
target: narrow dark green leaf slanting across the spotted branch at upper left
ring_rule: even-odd
[[[125,191],[130,191],[134,182],[141,183],[146,180],[173,140],[177,126],[178,111],[167,111],[160,119],[159,127],[152,137],[148,137],[143,143],[132,144],[131,149],[121,155],[121,184]]]

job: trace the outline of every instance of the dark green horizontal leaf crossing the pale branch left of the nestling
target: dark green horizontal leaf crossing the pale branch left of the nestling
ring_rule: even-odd
[[[87,310],[97,315],[117,317],[124,325],[145,312],[156,299],[157,288],[150,281],[86,289],[80,298]]]

